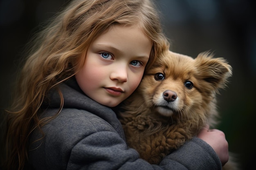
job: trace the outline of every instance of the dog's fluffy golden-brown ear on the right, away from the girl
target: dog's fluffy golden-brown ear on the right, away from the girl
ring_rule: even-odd
[[[200,53],[195,58],[195,65],[198,68],[198,78],[211,84],[213,89],[224,88],[227,79],[232,75],[232,68],[223,58],[213,58],[208,52]]]

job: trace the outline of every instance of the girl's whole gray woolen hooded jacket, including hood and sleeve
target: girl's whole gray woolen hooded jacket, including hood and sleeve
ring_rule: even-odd
[[[88,98],[74,79],[61,84],[61,113],[30,137],[29,163],[36,170],[220,170],[220,159],[198,138],[165,157],[159,165],[139,158],[126,145],[124,131],[111,108]],[[54,116],[60,106],[56,91],[41,118]],[[38,140],[40,139],[40,140]]]

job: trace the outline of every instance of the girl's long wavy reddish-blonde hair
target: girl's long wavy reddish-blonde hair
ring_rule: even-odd
[[[8,113],[7,170],[22,170],[28,161],[29,136],[54,117],[39,119],[50,89],[81,69],[90,44],[110,26],[139,26],[152,40],[146,69],[169,48],[159,15],[150,0],[74,0],[29,42]],[[61,92],[60,113],[63,107]],[[58,115],[56,113],[56,115]],[[42,132],[42,130],[41,130]]]

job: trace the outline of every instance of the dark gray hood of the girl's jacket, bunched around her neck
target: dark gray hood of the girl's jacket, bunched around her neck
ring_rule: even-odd
[[[77,84],[74,76],[60,84],[58,88],[63,95],[63,108],[75,108],[93,113],[107,121],[124,138],[124,131],[115,112],[111,108],[103,106],[86,96]],[[56,89],[52,89],[47,97],[48,98],[47,101],[44,102],[44,106],[49,108],[60,108],[61,97]]]

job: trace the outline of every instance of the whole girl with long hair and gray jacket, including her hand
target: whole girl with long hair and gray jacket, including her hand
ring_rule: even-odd
[[[159,166],[126,145],[111,108],[168,50],[149,0],[74,0],[31,44],[9,113],[7,169],[221,169],[227,161],[218,130],[202,130],[204,141],[188,141]]]

